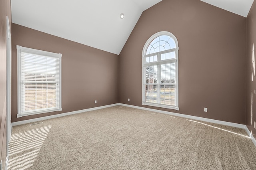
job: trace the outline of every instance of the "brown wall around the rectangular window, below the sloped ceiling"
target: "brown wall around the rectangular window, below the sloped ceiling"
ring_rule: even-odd
[[[62,53],[62,111],[17,118],[16,45]],[[118,55],[12,24],[12,122],[118,103],[117,77]]]

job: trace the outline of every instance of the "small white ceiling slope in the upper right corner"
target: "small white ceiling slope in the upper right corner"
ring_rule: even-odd
[[[229,12],[247,17],[254,0],[201,0]]]

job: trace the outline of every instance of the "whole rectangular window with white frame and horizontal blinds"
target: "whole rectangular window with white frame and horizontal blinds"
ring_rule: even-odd
[[[60,53],[17,45],[18,115],[61,111]]]

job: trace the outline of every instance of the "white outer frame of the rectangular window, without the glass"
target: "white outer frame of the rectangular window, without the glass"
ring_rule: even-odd
[[[17,82],[17,86],[18,86],[18,114],[17,117],[23,117],[23,116],[28,116],[28,115],[36,115],[36,114],[41,114],[41,113],[49,113],[49,112],[54,112],[54,111],[62,111],[62,96],[61,96],[61,58],[62,58],[62,54],[61,53],[52,53],[52,52],[48,52],[48,51],[42,51],[42,50],[38,50],[38,49],[32,49],[32,48],[27,48],[27,47],[22,47],[20,45],[17,45],[17,77],[18,77],[18,82]],[[56,97],[58,97],[59,103],[58,106],[54,107],[53,109],[50,108],[46,108],[46,109],[36,109],[33,111],[28,111],[28,112],[23,112],[22,111],[22,97],[24,100],[24,94],[22,95],[22,75],[21,75],[21,67],[22,67],[22,63],[21,63],[21,53],[25,52],[25,53],[32,53],[32,54],[36,54],[36,55],[43,55],[43,56],[47,56],[47,57],[56,57],[59,59],[59,91],[58,91],[58,95]]]

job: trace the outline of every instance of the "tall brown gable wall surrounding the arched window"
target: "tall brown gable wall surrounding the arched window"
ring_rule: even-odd
[[[180,111],[141,105],[142,49],[160,31],[178,39]],[[246,18],[199,0],[163,0],[142,13],[120,53],[119,102],[245,124],[245,55]]]

